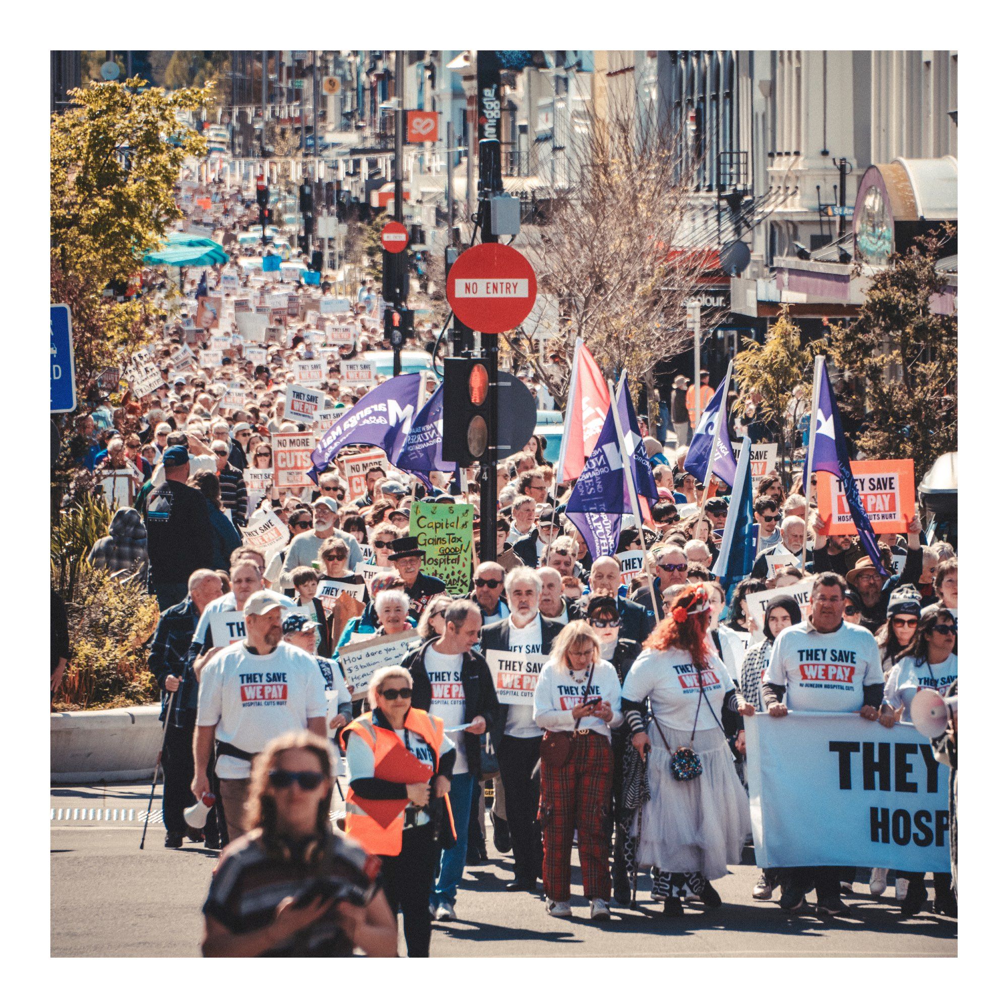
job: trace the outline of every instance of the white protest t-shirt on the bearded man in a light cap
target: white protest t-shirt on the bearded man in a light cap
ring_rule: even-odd
[[[326,716],[326,680],[314,655],[281,641],[269,654],[253,654],[238,641],[204,666],[196,723],[217,726],[219,742],[246,752],[261,752],[270,739],[307,727],[308,718]],[[217,775],[248,777],[251,764],[222,756]]]

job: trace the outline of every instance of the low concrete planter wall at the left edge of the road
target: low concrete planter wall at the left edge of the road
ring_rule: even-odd
[[[161,748],[159,704],[49,715],[49,780],[97,784],[148,779]]]

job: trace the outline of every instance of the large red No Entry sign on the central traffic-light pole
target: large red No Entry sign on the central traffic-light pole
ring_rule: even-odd
[[[535,303],[535,273],[508,245],[486,242],[467,249],[448,276],[448,301],[456,318],[478,333],[506,333],[520,326]]]

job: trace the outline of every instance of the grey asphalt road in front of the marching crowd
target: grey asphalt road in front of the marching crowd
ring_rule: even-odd
[[[147,793],[132,784],[51,790],[52,956],[199,955],[200,907],[216,852],[188,842],[181,850],[165,850],[159,822],[151,823],[140,851],[138,816]],[[158,787],[155,810],[159,798]],[[75,820],[74,809],[96,817],[82,821],[79,811]],[[929,912],[902,920],[892,888],[881,899],[871,896],[867,874],[859,876],[854,896],[846,897],[849,915],[829,922],[811,913],[786,916],[775,903],[753,900],[759,872],[749,864],[716,883],[725,901],[716,910],[687,907],[684,917],[666,920],[642,875],[639,909],[613,905],[612,920],[595,923],[578,895],[574,918],[564,920],[546,914],[541,896],[505,892],[511,859],[492,843],[489,848],[487,864],[466,870],[456,904],[459,920],[434,925],[431,956],[957,955],[956,921]],[[751,861],[752,852],[747,855]],[[580,886],[576,867],[576,894]],[[404,952],[401,941],[400,948]]]

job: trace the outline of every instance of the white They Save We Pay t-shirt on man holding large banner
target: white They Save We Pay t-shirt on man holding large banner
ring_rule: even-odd
[[[878,642],[866,627],[841,623],[820,633],[808,623],[785,627],[773,642],[763,681],[786,686],[792,711],[860,711],[864,687],[881,684]]]

